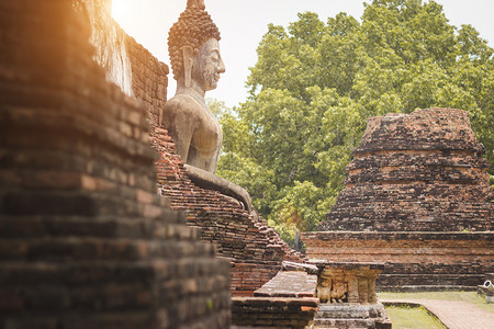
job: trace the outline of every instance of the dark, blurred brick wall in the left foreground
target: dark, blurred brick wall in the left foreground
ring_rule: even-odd
[[[70,1],[0,2],[0,327],[227,328],[229,264],[156,195],[89,35]]]

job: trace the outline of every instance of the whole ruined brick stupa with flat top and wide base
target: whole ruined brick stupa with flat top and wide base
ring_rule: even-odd
[[[461,110],[370,118],[307,256],[385,262],[379,288],[475,286],[494,263],[484,152]]]

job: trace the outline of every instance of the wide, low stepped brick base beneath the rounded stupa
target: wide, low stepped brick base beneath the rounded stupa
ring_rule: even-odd
[[[321,231],[304,235],[304,243],[315,259],[384,262],[381,291],[475,286],[494,263],[494,240],[485,232]]]

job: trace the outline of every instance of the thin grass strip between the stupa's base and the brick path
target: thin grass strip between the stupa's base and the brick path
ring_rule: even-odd
[[[476,292],[424,292],[424,293],[378,293],[379,299],[442,299],[468,302],[494,313],[494,304],[487,304],[485,297]]]

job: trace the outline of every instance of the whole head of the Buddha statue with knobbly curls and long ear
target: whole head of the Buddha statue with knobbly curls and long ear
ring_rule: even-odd
[[[225,71],[220,39],[220,31],[204,10],[204,1],[189,0],[168,36],[173,78],[184,87],[191,87],[193,81],[203,91],[215,89],[220,73]]]

